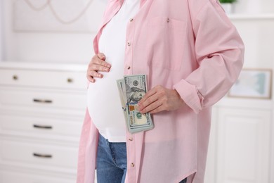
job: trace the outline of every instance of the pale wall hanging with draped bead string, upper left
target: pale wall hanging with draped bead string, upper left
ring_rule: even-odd
[[[16,32],[96,32],[106,0],[14,0]]]

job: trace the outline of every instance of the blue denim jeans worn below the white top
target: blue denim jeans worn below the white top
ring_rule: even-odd
[[[126,143],[109,142],[99,134],[96,170],[98,183],[124,183],[126,178]],[[179,183],[186,183],[186,178]]]

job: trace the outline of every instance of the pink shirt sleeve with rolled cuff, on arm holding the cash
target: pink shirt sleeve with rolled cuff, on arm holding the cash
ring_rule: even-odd
[[[212,106],[228,92],[244,61],[242,39],[217,1],[207,0],[192,17],[199,67],[174,85],[195,113]]]

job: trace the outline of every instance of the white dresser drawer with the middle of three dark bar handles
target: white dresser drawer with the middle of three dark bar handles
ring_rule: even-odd
[[[32,137],[79,140],[82,120],[72,118],[48,118],[47,116],[0,115],[0,133]]]

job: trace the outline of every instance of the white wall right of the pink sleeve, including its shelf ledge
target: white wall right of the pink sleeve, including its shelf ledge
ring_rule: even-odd
[[[237,0],[231,17],[246,47],[244,68],[273,68],[274,1]]]

